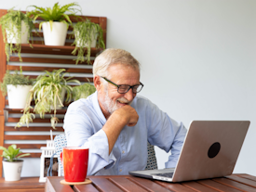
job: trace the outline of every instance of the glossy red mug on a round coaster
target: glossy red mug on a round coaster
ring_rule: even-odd
[[[66,182],[84,182],[88,173],[88,147],[63,147],[61,161]]]

